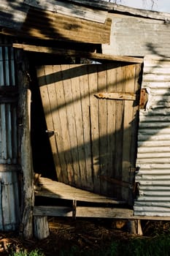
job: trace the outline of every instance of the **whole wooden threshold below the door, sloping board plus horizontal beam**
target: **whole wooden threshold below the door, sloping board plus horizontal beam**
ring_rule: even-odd
[[[115,200],[114,198],[97,195],[83,189],[77,189],[58,181],[52,181],[50,178],[39,177],[39,186],[36,187],[35,195],[42,197],[52,197],[56,199],[72,200],[72,206],[34,206],[33,215],[35,217],[48,216],[131,220],[170,220],[170,217],[135,216],[134,210],[123,208],[123,203],[125,202],[121,200]],[[79,201],[88,203],[100,203],[100,206],[77,206]],[[107,206],[107,204],[109,205]],[[112,206],[110,204],[112,204]]]

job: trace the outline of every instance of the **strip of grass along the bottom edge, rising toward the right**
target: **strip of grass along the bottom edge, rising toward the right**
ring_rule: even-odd
[[[166,225],[167,224],[167,225]],[[150,225],[147,232],[148,237],[121,237],[112,238],[107,244],[102,241],[98,246],[72,246],[68,249],[61,249],[57,254],[51,256],[169,256],[170,255],[170,223],[162,225],[162,229],[157,227],[154,222]],[[145,233],[147,236],[147,233]],[[39,249],[28,252],[20,249],[20,252],[12,252],[9,256],[46,256]]]

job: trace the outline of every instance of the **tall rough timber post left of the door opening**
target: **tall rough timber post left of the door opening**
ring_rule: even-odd
[[[21,184],[21,220],[20,234],[24,238],[33,236],[33,207],[34,207],[34,176],[31,158],[31,91],[27,75],[28,64],[21,50],[17,52],[18,87],[19,87],[19,151],[20,165],[23,172]]]

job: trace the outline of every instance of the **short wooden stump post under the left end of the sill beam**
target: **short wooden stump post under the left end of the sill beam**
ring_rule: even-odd
[[[34,236],[39,240],[45,239],[50,235],[47,216],[34,217]]]

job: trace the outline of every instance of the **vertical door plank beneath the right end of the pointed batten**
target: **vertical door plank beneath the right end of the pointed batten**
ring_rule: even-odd
[[[125,92],[134,93],[134,75],[135,65],[127,65],[125,67]],[[123,122],[123,159],[122,159],[122,180],[129,182],[129,174],[131,170],[131,123],[134,117],[133,109],[134,101],[125,100],[124,122]],[[122,197],[128,198],[128,188],[122,188]]]

